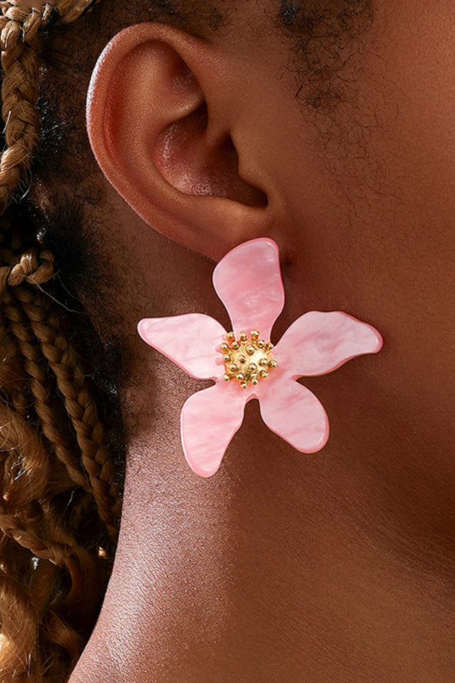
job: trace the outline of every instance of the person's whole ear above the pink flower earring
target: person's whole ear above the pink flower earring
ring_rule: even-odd
[[[152,228],[212,258],[269,233],[267,189],[242,177],[232,142],[235,88],[208,43],[142,23],[105,48],[87,99],[107,180]]]

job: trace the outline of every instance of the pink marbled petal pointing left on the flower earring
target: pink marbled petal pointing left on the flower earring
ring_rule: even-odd
[[[226,334],[224,327],[203,313],[168,318],[144,318],[137,326],[144,342],[197,379],[217,379],[223,375],[219,351]]]

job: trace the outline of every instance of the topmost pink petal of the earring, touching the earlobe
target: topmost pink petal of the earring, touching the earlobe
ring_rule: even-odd
[[[279,251],[274,241],[260,238],[232,249],[215,268],[213,286],[228,310],[236,336],[258,329],[268,342],[284,306]]]

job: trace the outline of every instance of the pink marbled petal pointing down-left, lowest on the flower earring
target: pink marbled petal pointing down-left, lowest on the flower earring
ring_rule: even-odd
[[[245,394],[237,383],[216,384],[193,393],[181,412],[183,452],[191,469],[211,477],[243,422]]]

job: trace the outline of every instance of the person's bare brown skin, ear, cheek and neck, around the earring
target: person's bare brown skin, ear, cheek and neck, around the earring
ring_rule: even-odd
[[[287,43],[254,5],[210,41],[133,29],[92,81],[87,121],[105,174],[93,212],[134,361],[119,546],[70,682],[449,683],[453,6],[378,0],[355,100],[314,115],[294,97]],[[176,88],[178,60],[189,71]],[[206,129],[191,116],[203,101]],[[253,402],[203,480],[178,424],[204,383],[135,329],[196,311],[228,326],[214,261],[259,235],[283,260],[287,303],[272,341],[306,310],[343,310],[385,346],[305,381],[331,421],[321,452],[293,450]]]

